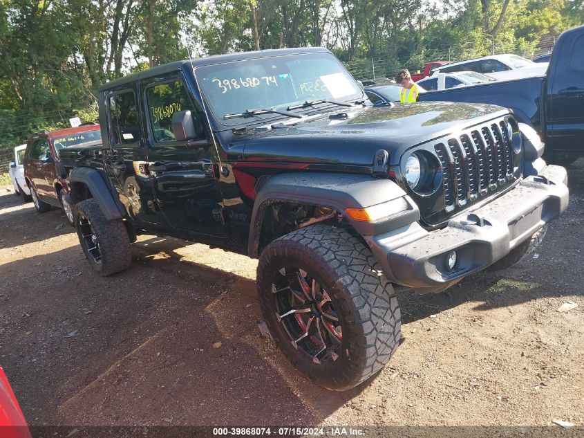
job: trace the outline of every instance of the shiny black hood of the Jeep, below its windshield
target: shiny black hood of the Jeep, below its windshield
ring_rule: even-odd
[[[342,113],[339,111],[337,114]],[[372,165],[379,149],[390,164],[409,148],[508,114],[487,104],[417,102],[395,107],[360,107],[346,118],[321,116],[265,131],[247,130],[232,138],[246,161]]]

